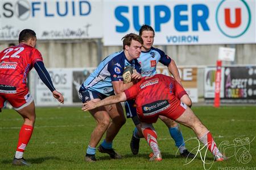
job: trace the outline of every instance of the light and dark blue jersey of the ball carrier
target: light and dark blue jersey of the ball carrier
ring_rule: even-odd
[[[128,61],[125,52],[119,51],[101,61],[96,70],[83,82],[81,89],[89,89],[110,96],[114,94],[112,81],[123,81],[123,70],[130,65],[141,73],[138,60]]]

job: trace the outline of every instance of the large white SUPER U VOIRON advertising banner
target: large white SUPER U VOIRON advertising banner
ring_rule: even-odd
[[[256,43],[255,1],[104,1],[104,44],[121,45],[143,24],[155,45]]]

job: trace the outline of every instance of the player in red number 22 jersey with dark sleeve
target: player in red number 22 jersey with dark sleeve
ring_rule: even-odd
[[[13,165],[30,165],[23,159],[23,153],[30,141],[36,116],[35,103],[27,87],[28,72],[34,67],[53,97],[64,103],[62,94],[55,90],[44,67],[42,55],[35,46],[35,32],[25,29],[19,34],[19,45],[6,48],[0,53],[0,111],[7,100],[24,119]]]

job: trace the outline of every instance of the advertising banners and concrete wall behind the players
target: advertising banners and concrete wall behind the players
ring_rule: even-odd
[[[0,8],[1,51],[18,44],[24,28],[34,30],[65,105],[80,105],[81,83],[143,24],[155,30],[153,46],[175,60],[193,103],[213,103],[217,60],[221,104],[256,103],[255,1],[1,0]],[[163,65],[157,68],[169,74]],[[28,81],[37,106],[59,105],[35,71]]]

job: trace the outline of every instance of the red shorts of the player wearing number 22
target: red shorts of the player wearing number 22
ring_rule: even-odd
[[[0,89],[0,109],[3,107],[3,103],[6,100],[9,101],[9,103],[14,107],[15,110],[20,110],[23,107],[28,106],[33,101],[33,98],[28,91],[28,88],[22,88],[17,90]]]

